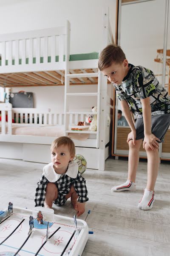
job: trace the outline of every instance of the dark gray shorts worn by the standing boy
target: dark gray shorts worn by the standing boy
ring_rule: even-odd
[[[163,142],[167,129],[170,126],[170,114],[151,116],[151,131],[161,142]],[[143,118],[137,118],[135,123],[136,140],[144,139]]]

